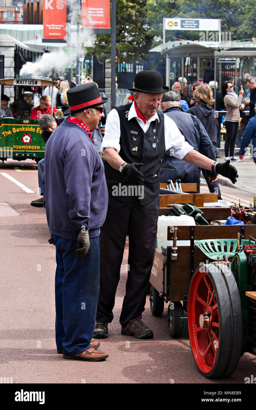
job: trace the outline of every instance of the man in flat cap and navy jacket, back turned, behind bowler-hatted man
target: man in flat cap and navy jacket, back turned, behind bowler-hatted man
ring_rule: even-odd
[[[184,135],[185,140],[194,147],[194,150],[216,161],[214,146],[203,124],[195,115],[184,112],[180,107],[180,96],[177,91],[168,91],[168,93],[163,95],[161,109],[164,114],[168,115],[175,122],[182,135]],[[219,193],[217,173],[206,170],[205,173],[208,183],[216,185],[218,188],[217,192]],[[161,162],[160,183],[167,183],[168,180],[175,182],[176,179],[180,179],[181,182],[196,183],[196,192],[199,193],[200,174],[201,168],[198,166],[175,158],[173,155],[170,155],[170,151],[164,153]]]

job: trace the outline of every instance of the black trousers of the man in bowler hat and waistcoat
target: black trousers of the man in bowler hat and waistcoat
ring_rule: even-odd
[[[141,316],[145,308],[146,292],[152,269],[157,240],[159,197],[148,205],[138,198],[120,202],[112,195],[108,199],[108,212],[100,234],[100,286],[96,319],[110,323],[113,320],[115,292],[120,280],[120,267],[128,230],[129,255],[126,294],[120,323]]]

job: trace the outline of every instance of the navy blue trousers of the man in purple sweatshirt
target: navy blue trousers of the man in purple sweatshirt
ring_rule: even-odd
[[[77,241],[51,234],[56,246],[55,334],[57,350],[76,355],[88,348],[95,327],[99,298],[99,237],[81,260]]]

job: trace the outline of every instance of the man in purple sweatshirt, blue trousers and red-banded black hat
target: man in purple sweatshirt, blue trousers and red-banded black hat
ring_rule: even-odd
[[[104,116],[95,83],[67,91],[67,118],[45,146],[44,206],[56,246],[56,345],[63,358],[101,361],[92,340],[99,295],[99,230],[108,192],[91,131]]]

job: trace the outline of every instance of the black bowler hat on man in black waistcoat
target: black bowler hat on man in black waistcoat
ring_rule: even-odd
[[[169,87],[163,85],[161,74],[152,70],[139,71],[134,78],[134,87],[128,90],[151,94],[162,94],[170,90]]]

